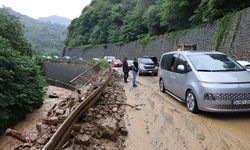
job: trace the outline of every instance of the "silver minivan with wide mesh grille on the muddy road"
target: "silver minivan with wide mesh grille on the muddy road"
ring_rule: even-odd
[[[193,113],[250,111],[250,72],[220,52],[163,54],[159,85]]]

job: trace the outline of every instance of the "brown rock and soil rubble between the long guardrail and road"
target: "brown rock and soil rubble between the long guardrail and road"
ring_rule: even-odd
[[[120,81],[121,79],[114,73],[101,98],[75,124],[71,140],[64,148],[124,149],[124,136],[128,134],[123,119],[126,96]]]

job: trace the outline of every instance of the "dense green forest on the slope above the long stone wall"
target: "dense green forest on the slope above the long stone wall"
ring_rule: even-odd
[[[243,0],[92,0],[68,27],[66,47],[124,43],[212,22]]]

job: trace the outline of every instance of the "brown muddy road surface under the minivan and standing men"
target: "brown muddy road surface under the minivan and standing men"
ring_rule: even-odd
[[[161,93],[158,80],[139,76],[137,88],[124,84],[127,103],[141,108],[127,108],[126,149],[250,149],[250,113],[192,114],[183,103]]]

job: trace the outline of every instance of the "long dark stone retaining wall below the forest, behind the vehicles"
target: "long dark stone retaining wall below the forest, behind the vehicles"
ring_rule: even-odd
[[[236,59],[250,60],[250,8],[242,11],[239,27],[236,29],[237,18],[237,14],[231,17],[226,32],[223,34],[219,51],[225,52]],[[197,44],[199,50],[214,50],[220,21],[217,20],[205,26],[181,31],[182,34],[171,38],[169,36],[158,36],[146,45],[140,45],[139,42],[133,41],[123,45],[110,44],[87,49],[75,48],[66,50],[65,55],[79,56],[85,59],[103,58],[107,55],[116,56],[120,59],[125,56],[131,59],[135,56],[145,55],[160,58],[163,53],[176,50],[177,45],[181,43]]]

